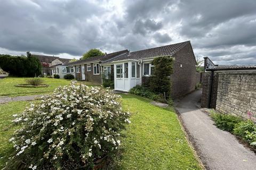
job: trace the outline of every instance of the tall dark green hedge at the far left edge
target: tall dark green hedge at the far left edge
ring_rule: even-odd
[[[17,77],[37,77],[42,72],[42,64],[29,52],[28,57],[0,55],[0,67]]]

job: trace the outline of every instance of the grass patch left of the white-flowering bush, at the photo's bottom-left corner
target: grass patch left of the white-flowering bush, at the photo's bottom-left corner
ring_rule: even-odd
[[[8,160],[9,153],[12,152],[12,143],[9,142],[13,132],[18,129],[12,120],[14,114],[21,113],[29,104],[28,101],[15,101],[8,104],[0,104],[0,169]]]

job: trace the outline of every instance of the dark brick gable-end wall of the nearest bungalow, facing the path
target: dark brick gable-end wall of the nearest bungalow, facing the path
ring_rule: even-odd
[[[173,57],[175,57],[175,61],[170,78],[172,82],[171,97],[177,98],[195,90],[196,61],[190,43],[175,53]]]

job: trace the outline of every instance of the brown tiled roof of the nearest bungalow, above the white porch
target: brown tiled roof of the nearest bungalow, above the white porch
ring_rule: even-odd
[[[136,52],[131,52],[130,55],[129,53],[125,53],[119,57],[113,58],[112,60],[108,60],[105,63],[120,61],[120,60],[129,60],[129,59],[140,60],[143,58],[150,58],[150,57],[156,57],[156,56],[172,56],[189,43],[190,41],[185,41],[177,44],[143,49]]]

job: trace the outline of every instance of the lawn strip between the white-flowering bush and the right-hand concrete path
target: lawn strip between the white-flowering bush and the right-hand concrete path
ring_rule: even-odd
[[[172,108],[135,95],[122,97],[132,116],[115,169],[202,169]]]

